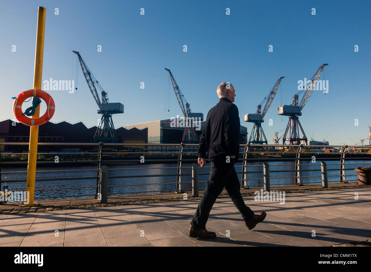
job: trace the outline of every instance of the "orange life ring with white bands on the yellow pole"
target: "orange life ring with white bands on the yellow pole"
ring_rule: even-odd
[[[22,112],[22,104],[24,100],[26,100],[29,97],[37,96],[45,101],[46,103],[46,112],[42,117],[39,118],[29,118],[26,115],[23,115]],[[18,121],[20,121],[24,125],[29,126],[38,126],[45,124],[47,121],[52,118],[55,111],[55,104],[53,98],[42,90],[27,90],[23,93],[20,93],[13,103],[13,113],[14,116],[17,118]]]

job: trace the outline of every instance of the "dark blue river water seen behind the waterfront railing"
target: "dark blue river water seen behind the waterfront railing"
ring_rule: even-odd
[[[274,186],[275,184],[294,184],[294,173],[293,172],[274,172],[276,170],[294,170],[294,161],[278,161],[269,162],[270,165],[270,184]],[[339,181],[339,160],[337,161],[326,161],[328,169],[336,169],[335,171],[328,171],[328,181]],[[347,181],[357,179],[356,172],[354,168],[359,166],[371,166],[370,161],[345,161],[345,168],[352,168],[346,171]],[[366,164],[362,164],[366,163]],[[336,164],[336,165],[332,165]],[[236,172],[242,171],[242,162],[235,164]],[[263,162],[248,162],[248,167],[246,171],[263,171]],[[205,168],[198,168],[199,174],[206,173],[207,175],[199,175],[199,181],[207,181],[210,173],[210,164],[206,164]],[[132,164],[132,165],[109,165],[108,175],[109,176],[130,176],[130,175],[165,175],[165,174],[177,174],[177,164]],[[182,164],[182,189],[191,189],[191,174],[192,168],[190,163]],[[139,168],[139,169],[132,169]],[[155,169],[146,169],[155,168]],[[95,177],[96,176],[96,165],[90,166],[63,166],[60,167],[38,167],[37,171],[55,171],[55,170],[79,170],[79,171],[56,171],[56,172],[36,172],[36,178],[65,178],[65,177]],[[86,170],[86,171],[80,171]],[[300,170],[311,170],[301,172],[301,182],[321,182],[321,162],[316,161],[312,163],[311,161],[302,161]],[[26,179],[27,173],[4,173],[4,172],[21,172],[27,171],[27,167],[2,167],[1,173],[1,190],[3,189],[4,180],[12,179]],[[184,176],[183,176],[184,175]],[[237,174],[239,179],[242,178],[242,174]],[[331,175],[335,175],[331,177]],[[309,177],[310,176],[310,177]],[[247,185],[261,185],[263,186],[263,173],[250,173],[247,174],[248,180]],[[174,182],[174,184],[167,184]],[[161,176],[161,177],[134,177],[134,178],[109,178],[108,185],[131,185],[131,184],[141,184],[137,186],[118,186],[118,187],[108,187],[108,194],[120,193],[116,195],[128,195],[135,194],[135,192],[151,192],[151,191],[175,191],[176,189],[176,177],[175,176]],[[187,183],[188,182],[188,183]],[[150,185],[151,183],[158,183]],[[142,185],[144,184],[144,185]],[[26,182],[14,182],[7,183],[8,191],[25,189]],[[37,181],[35,189],[43,188],[61,188],[61,187],[85,187],[85,186],[95,186],[95,179],[77,179],[72,181]],[[206,182],[201,182],[199,188],[205,188]],[[252,187],[255,188],[255,187]],[[274,188],[274,187],[273,187]],[[121,194],[124,193],[124,194]],[[48,197],[60,197],[60,196],[72,196],[68,198],[84,198],[91,196],[78,197],[77,195],[93,195],[95,194],[95,188],[78,188],[78,189],[47,189],[47,190],[36,190],[35,199],[42,198],[39,200],[51,199]],[[109,195],[111,196],[111,195]],[[54,199],[54,198],[53,198]]]

